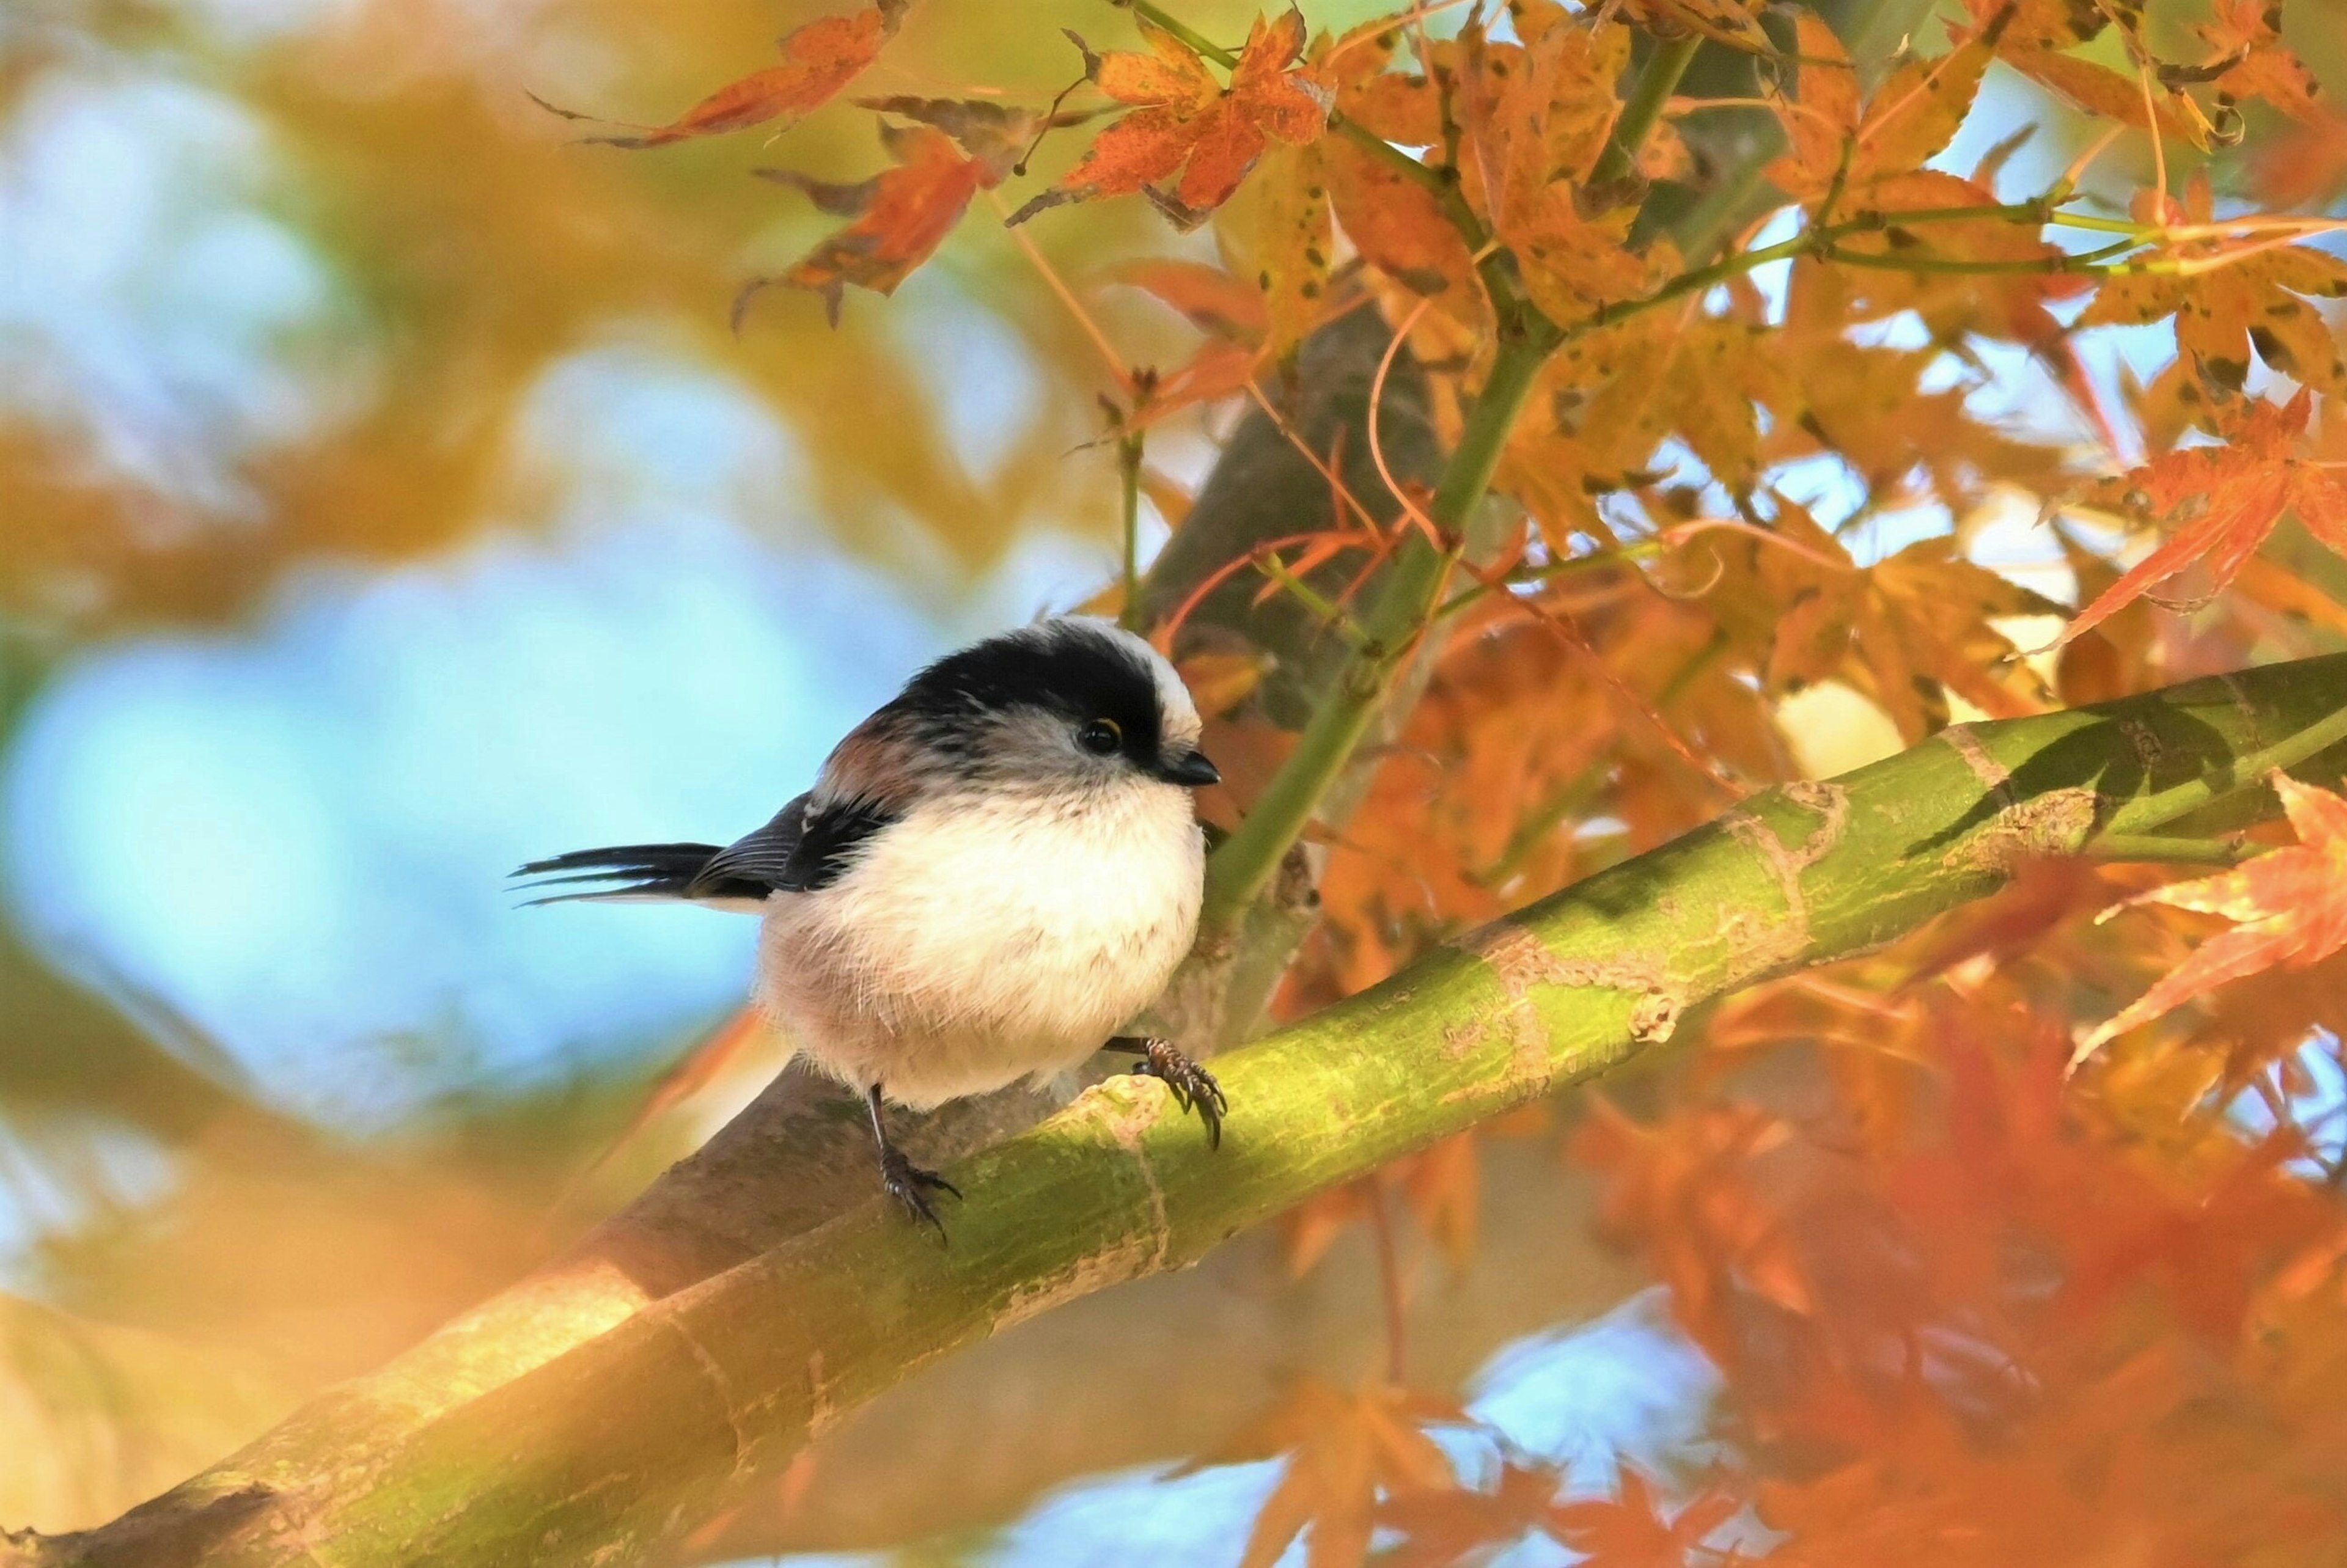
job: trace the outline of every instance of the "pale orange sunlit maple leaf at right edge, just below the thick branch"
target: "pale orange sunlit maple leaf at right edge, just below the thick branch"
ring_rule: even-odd
[[[2225,981],[2263,969],[2305,969],[2347,946],[2347,798],[2300,784],[2286,772],[2270,775],[2281,810],[2298,831],[2298,845],[2270,850],[2246,866],[2171,883],[2105,908],[2108,920],[2136,904],[2166,904],[2234,922],[2223,937],[2199,944],[2159,984],[2089,1030],[2070,1056],[2077,1066],[2103,1042],[2138,1023],[2190,1002]]]

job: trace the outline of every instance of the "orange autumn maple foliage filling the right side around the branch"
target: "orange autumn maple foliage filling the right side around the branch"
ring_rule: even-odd
[[[1089,608],[1185,667],[1230,779],[1211,934],[1296,843],[1314,861],[1270,1002],[1300,1016],[1756,789],[2342,646],[2347,218],[2319,214],[2347,120],[2279,5],[2166,9],[1964,0],[1892,47],[1868,5],[1432,0],[1277,9],[1225,45],[1134,0],[1070,35],[1054,101],[857,96],[922,26],[880,0],[589,141],[826,103],[878,134],[852,181],[758,146],[828,232],[739,279],[744,340],[777,291],[838,324],[885,307],[850,289],[1009,225],[1096,352],[1073,460],[1122,481],[1127,570]],[[1159,254],[1051,254],[1115,202]],[[1178,359],[1120,340],[1136,293]],[[1359,448],[1314,448],[1307,345],[1361,319],[1385,347]],[[1387,446],[1404,399],[1436,472]],[[1239,418],[1326,505],[1143,615],[1145,514],[1178,540],[1195,500],[1152,444]],[[1230,594],[1303,646],[1216,617]],[[1669,1056],[1300,1207],[1298,1272],[1375,1235],[1396,1336],[1197,1455],[1279,1465],[1242,1561],[2342,1561],[2342,721],[2267,737],[2237,758],[2258,810],[2016,864],[1903,944],[1678,1021]],[[2164,779],[2157,749],[2126,791]],[[1589,1174],[1720,1373],[1702,1462],[1591,1491],[1504,1444],[1460,1460],[1490,1434],[1413,1383],[1399,1324],[1476,1253],[1497,1138]]]

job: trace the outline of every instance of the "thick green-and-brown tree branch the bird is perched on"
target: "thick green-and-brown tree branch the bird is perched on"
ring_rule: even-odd
[[[1218,1063],[1209,1153],[1120,1077],[962,1164],[953,1244],[873,1199],[385,1441],[329,1397],[35,1563],[643,1561],[913,1368],[1664,1042],[1756,979],[1871,951],[2140,800],[2272,800],[2241,763],[2347,707],[2347,655],[2007,723],[1753,796]],[[2321,730],[2314,730],[2321,735]],[[2347,746],[2307,758],[2321,777]],[[1145,1376],[1181,1345],[1136,1338]]]

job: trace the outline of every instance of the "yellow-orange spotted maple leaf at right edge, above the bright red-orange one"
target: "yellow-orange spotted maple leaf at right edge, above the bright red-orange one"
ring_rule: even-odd
[[[2190,223],[2209,223],[2206,176],[2185,188]],[[2176,246],[2176,272],[2129,272],[2103,282],[2079,326],[2140,326],[2176,317],[2176,347],[2211,383],[2239,390],[2248,350],[2300,385],[2347,397],[2347,361],[2331,324],[2305,298],[2347,298],[2347,261],[2302,244],[2227,258],[2223,244]]]

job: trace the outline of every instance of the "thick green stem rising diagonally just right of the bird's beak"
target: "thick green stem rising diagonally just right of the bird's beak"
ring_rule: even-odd
[[[1556,340],[1556,329],[1537,322],[1535,329],[1519,331],[1500,345],[1490,378],[1476,397],[1474,413],[1467,415],[1467,430],[1460,432],[1457,451],[1450,453],[1450,465],[1427,507],[1429,519],[1446,535],[1460,533],[1467,514],[1490,488],[1507,432]],[[1418,533],[1399,547],[1385,587],[1361,620],[1368,643],[1354,653],[1328,699],[1296,737],[1296,749],[1272,775],[1253,810],[1209,857],[1202,930],[1227,932],[1270,885],[1279,859],[1303,836],[1321,796],[1328,793],[1375,721],[1385,688],[1434,610],[1453,561],[1455,549],[1436,549]]]

